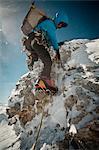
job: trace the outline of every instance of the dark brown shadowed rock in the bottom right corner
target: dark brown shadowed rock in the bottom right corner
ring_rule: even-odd
[[[79,129],[78,133],[73,137],[66,134],[63,141],[58,143],[60,150],[64,149],[80,149],[93,150],[99,149],[99,121],[92,121],[86,127]]]

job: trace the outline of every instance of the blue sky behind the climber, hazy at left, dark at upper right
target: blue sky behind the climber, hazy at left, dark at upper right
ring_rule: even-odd
[[[31,0],[0,0],[0,103],[6,103],[20,76],[28,71],[21,53],[21,22]],[[97,1],[36,1],[50,17],[59,10],[68,14],[69,26],[58,30],[58,41],[73,38],[99,38]]]

